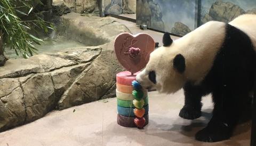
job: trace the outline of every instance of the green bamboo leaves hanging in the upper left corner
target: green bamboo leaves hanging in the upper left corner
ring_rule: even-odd
[[[17,55],[28,58],[36,53],[33,44],[40,45],[42,39],[37,38],[29,32],[36,29],[53,29],[51,23],[45,22],[34,12],[32,3],[42,4],[39,0],[0,0],[0,31],[5,46],[10,47]],[[43,5],[43,4],[42,4]],[[32,18],[29,16],[33,16]],[[21,19],[22,17],[22,19]],[[23,19],[30,18],[30,19]]]

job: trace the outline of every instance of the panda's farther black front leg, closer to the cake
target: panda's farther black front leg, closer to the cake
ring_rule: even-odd
[[[187,82],[183,87],[185,94],[185,105],[180,110],[179,116],[184,119],[196,119],[201,117],[202,95],[205,91],[201,86],[195,86]]]

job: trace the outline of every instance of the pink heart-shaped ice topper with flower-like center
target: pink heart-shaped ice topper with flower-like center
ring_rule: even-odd
[[[115,39],[115,53],[122,66],[132,74],[143,69],[154,51],[155,41],[148,34],[119,34]],[[130,52],[129,52],[130,50]]]

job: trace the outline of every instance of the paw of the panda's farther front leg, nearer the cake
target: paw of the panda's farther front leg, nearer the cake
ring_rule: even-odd
[[[201,117],[201,109],[195,109],[191,106],[184,106],[179,113],[179,116],[184,119],[196,119]]]

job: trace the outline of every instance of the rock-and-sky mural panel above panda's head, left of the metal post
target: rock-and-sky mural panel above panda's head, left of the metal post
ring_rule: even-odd
[[[137,25],[186,35],[197,26],[196,1],[137,0]]]

